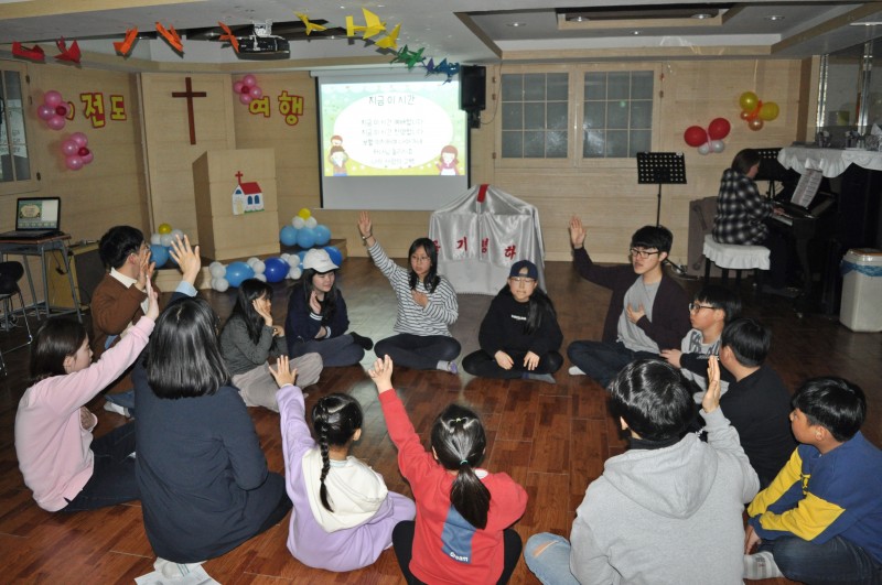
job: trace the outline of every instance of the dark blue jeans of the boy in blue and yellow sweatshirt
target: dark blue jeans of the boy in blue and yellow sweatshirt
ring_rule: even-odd
[[[857,544],[835,537],[817,544],[798,537],[763,541],[762,551],[771,551],[775,564],[792,581],[813,585],[882,583],[882,564]]]

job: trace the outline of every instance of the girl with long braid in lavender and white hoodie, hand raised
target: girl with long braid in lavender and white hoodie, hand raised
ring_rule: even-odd
[[[388,491],[381,475],[349,455],[362,436],[362,407],[354,398],[319,399],[312,408],[316,443],[306,426],[303,392],[293,380],[277,381],[284,476],[294,505],[288,550],[301,563],[327,571],[373,564],[391,545],[395,526],[413,519],[413,501]]]

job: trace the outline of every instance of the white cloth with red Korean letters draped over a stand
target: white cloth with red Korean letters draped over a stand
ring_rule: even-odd
[[[438,272],[458,293],[495,295],[518,260],[536,264],[546,288],[539,212],[496,187],[472,187],[434,212],[429,237],[438,246]]]

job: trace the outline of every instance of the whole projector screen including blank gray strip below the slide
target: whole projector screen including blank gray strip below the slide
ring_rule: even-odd
[[[459,79],[424,69],[318,79],[322,207],[433,210],[469,188]]]

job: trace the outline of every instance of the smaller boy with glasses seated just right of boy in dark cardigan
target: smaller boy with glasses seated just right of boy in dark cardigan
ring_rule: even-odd
[[[692,328],[680,343],[679,349],[663,349],[662,357],[668,364],[682,369],[684,376],[696,382],[702,390],[695,396],[701,403],[703,390],[708,387],[704,373],[708,371],[708,356],[720,355],[720,335],[727,323],[741,315],[741,299],[738,293],[709,284],[699,290],[689,303],[689,323]],[[723,393],[732,380],[723,372],[720,381]]]

